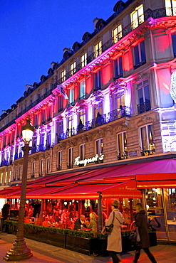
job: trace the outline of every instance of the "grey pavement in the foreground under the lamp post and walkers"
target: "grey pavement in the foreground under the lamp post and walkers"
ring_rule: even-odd
[[[4,262],[3,257],[6,256],[6,252],[12,247],[12,243],[15,240],[15,235],[11,235],[5,232],[0,233],[0,263]],[[78,252],[73,252],[60,247],[54,247],[42,242],[25,239],[27,247],[31,249],[33,257],[20,262],[26,263],[112,263],[110,257],[99,256],[87,256]],[[176,262],[176,245],[157,245],[151,247],[150,251],[154,255],[157,262],[162,263],[175,263]],[[120,254],[121,261],[123,263],[133,262],[135,252],[126,252]],[[13,261],[14,262],[14,261]],[[148,263],[150,259],[147,258],[143,249],[141,250],[140,260],[138,263]],[[16,263],[16,262],[14,262]]]

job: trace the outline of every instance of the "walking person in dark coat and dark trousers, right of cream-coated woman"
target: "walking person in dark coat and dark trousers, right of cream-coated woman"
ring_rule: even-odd
[[[143,208],[142,203],[137,203],[135,205],[135,226],[138,227],[139,235],[140,235],[140,243],[135,252],[135,259],[133,263],[137,263],[140,257],[140,250],[143,248],[147,256],[149,257],[152,263],[157,263],[155,257],[153,257],[152,253],[149,250],[150,247],[150,239],[148,234],[148,222],[147,222],[147,214]]]

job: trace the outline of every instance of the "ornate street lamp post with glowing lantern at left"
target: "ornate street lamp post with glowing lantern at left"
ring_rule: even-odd
[[[29,259],[32,257],[31,249],[26,247],[26,242],[24,241],[24,214],[26,205],[26,183],[27,183],[27,171],[28,171],[28,159],[29,151],[31,147],[29,146],[29,141],[31,141],[33,136],[34,127],[31,125],[30,119],[26,120],[26,124],[22,127],[22,136],[25,142],[22,150],[24,151],[24,163],[23,163],[23,174],[21,182],[21,199],[19,208],[19,222],[17,226],[16,240],[13,247],[6,253],[4,257],[5,261],[19,261],[23,259]]]

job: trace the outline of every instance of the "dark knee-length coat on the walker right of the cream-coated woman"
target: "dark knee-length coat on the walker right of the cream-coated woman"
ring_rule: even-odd
[[[135,225],[138,227],[140,234],[140,247],[150,247],[150,239],[148,234],[148,222],[145,210],[140,210],[140,212],[135,215]]]

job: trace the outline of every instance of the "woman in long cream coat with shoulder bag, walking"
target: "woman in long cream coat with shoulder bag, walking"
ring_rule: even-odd
[[[120,203],[118,200],[114,200],[112,204],[112,212],[109,215],[108,220],[105,221],[105,225],[108,226],[113,222],[113,231],[108,232],[108,245],[107,250],[110,257],[113,259],[113,263],[121,262],[118,254],[122,252],[122,238],[120,226],[123,224],[125,219],[119,212],[118,207]],[[113,219],[114,218],[114,219]]]

